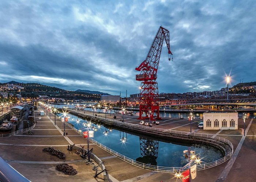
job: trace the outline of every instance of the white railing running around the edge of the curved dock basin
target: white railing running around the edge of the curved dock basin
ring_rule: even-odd
[[[79,112],[78,112],[79,113]],[[79,113],[81,114],[81,113]],[[89,116],[92,116],[92,117],[95,117],[93,115],[90,115],[90,114],[83,114],[83,115],[89,115]],[[61,117],[58,117],[60,120],[61,120]],[[100,118],[100,119],[103,119],[103,120],[109,120],[109,121],[112,121],[112,122],[115,122],[115,123],[121,123],[123,125],[129,125],[129,126],[135,126],[135,127],[139,127],[139,128],[149,128],[149,127],[141,127],[140,125],[136,125],[136,124],[130,124],[130,123],[126,123],[125,122],[119,122],[119,121],[116,121],[116,120],[113,120],[113,119],[106,119],[106,118],[102,118],[102,117],[99,117],[97,116],[97,118]],[[62,121],[62,120],[61,120]],[[62,121],[64,122],[64,121]],[[71,126],[71,124],[69,123],[66,123],[67,126],[69,126],[70,128],[72,128],[73,130],[75,130],[78,134],[80,135],[83,135],[83,132],[82,131],[79,131],[77,130],[75,127]],[[156,128],[156,129],[160,129],[160,128]],[[163,132],[166,132],[165,130],[161,129]],[[161,131],[161,130],[154,130],[154,131]],[[169,133],[169,131],[168,131]],[[170,131],[170,133],[173,133],[173,134],[181,134],[181,135],[188,135],[188,132],[182,132],[182,131]],[[223,158],[221,159],[218,159],[217,161],[213,161],[213,162],[209,162],[209,163],[200,163],[200,164],[197,164],[197,167],[196,169],[197,170],[204,170],[204,169],[208,169],[208,168],[211,168],[211,167],[214,167],[214,166],[217,166],[217,165],[220,165],[221,163],[227,161],[228,159],[230,159],[230,157],[232,156],[233,154],[233,144],[228,141],[227,139],[225,138],[221,138],[221,137],[216,137],[214,135],[210,135],[210,134],[195,134],[195,133],[192,133],[192,134],[189,134],[191,136],[197,136],[197,137],[205,137],[205,138],[208,138],[208,139],[211,139],[211,140],[217,140],[217,141],[221,141],[221,142],[224,142],[226,143],[227,145],[230,146],[230,148],[232,149],[231,153],[228,153],[227,155],[225,155]],[[101,149],[105,150],[105,151],[108,151],[110,154],[113,154],[115,156],[117,156],[118,158],[122,159],[123,161],[126,161],[134,166],[138,166],[138,167],[141,167],[143,169],[149,169],[149,170],[156,170],[156,171],[162,171],[162,172],[171,172],[171,173],[175,173],[176,171],[180,170],[180,167],[163,167],[163,166],[153,166],[153,165],[148,165],[148,164],[144,164],[144,163],[141,163],[141,162],[138,162],[138,161],[135,161],[133,159],[130,159],[104,145],[102,145],[101,143],[95,141],[94,139],[92,138],[89,138],[89,140],[93,143],[95,143],[98,147],[100,147]],[[186,170],[187,168],[184,168],[182,169],[182,171]]]

